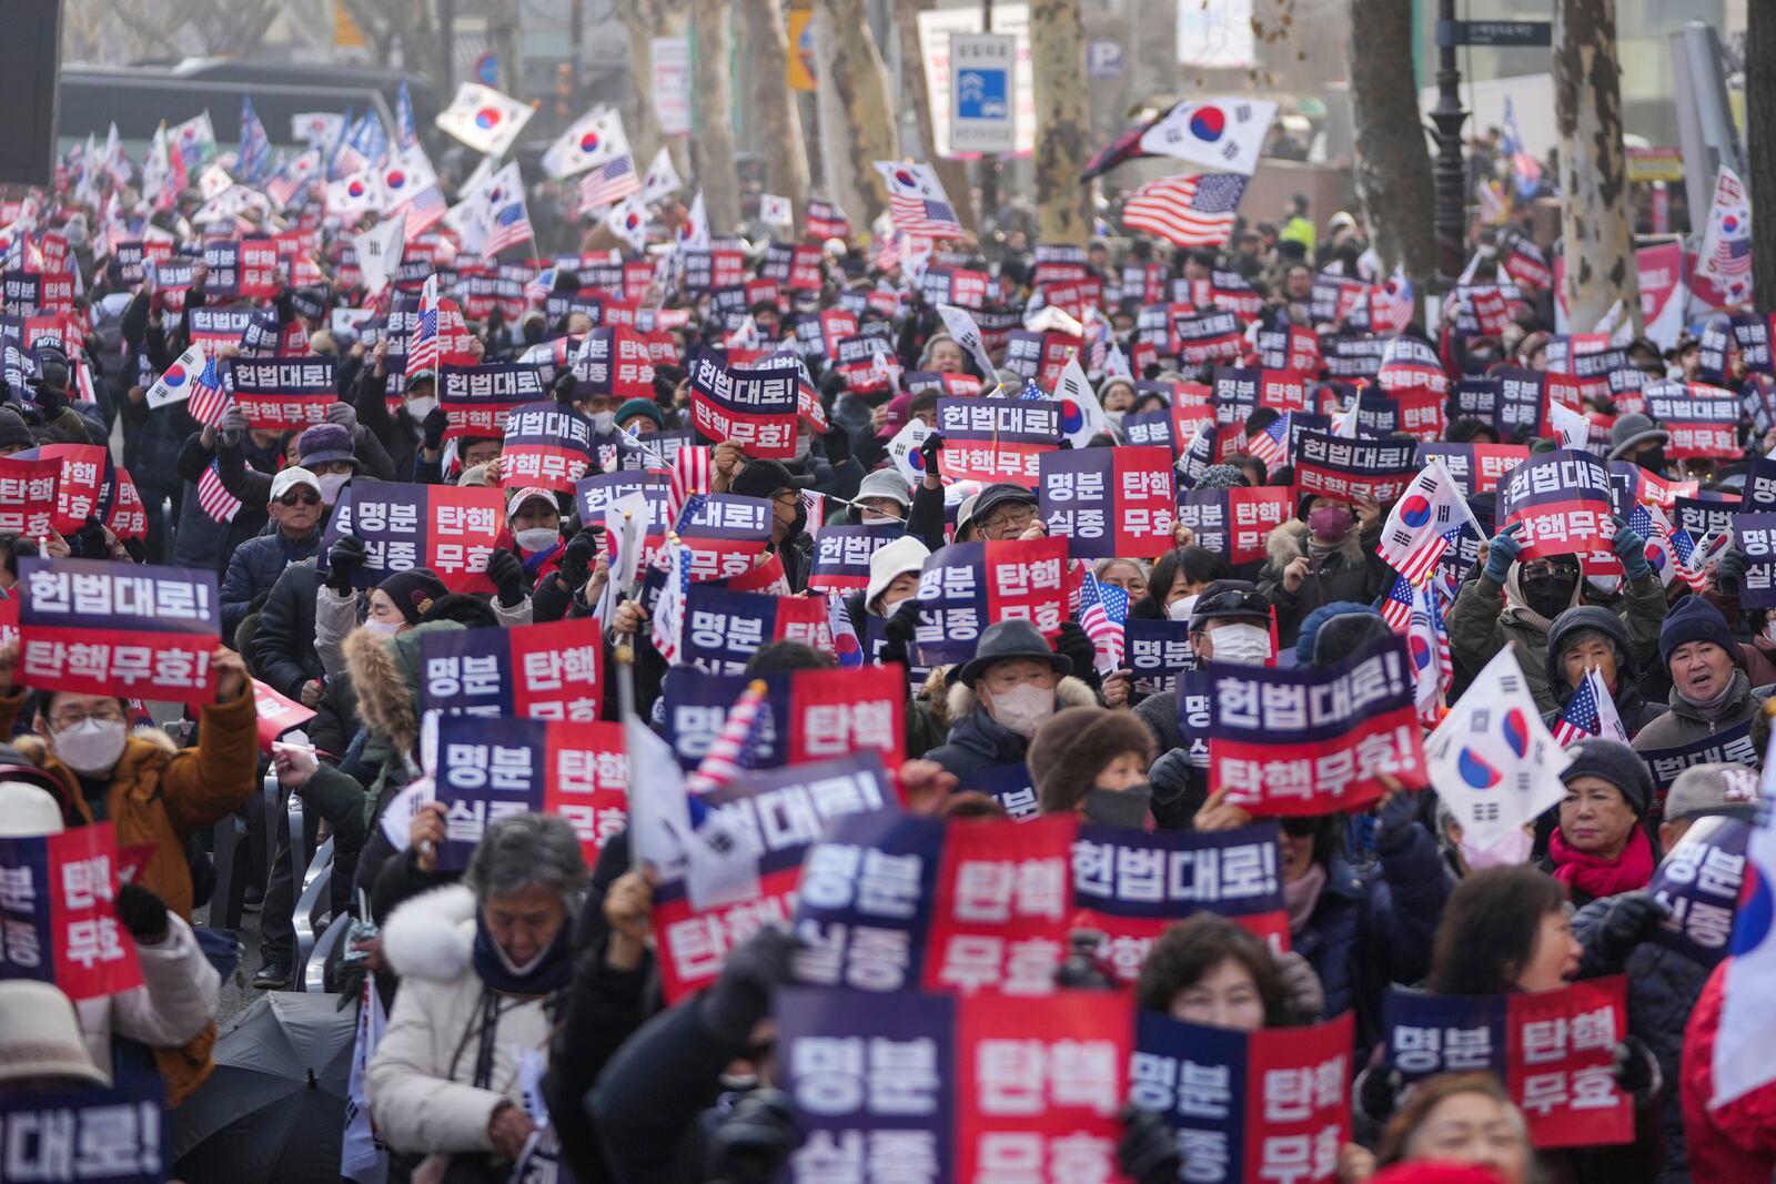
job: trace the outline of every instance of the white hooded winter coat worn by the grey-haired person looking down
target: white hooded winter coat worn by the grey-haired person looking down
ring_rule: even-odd
[[[549,1047],[547,999],[499,996],[492,1070],[474,1085],[483,1008],[497,994],[474,973],[474,893],[451,884],[408,900],[382,928],[401,991],[364,1086],[377,1133],[398,1152],[492,1152],[494,1109],[524,1104],[519,1053]]]

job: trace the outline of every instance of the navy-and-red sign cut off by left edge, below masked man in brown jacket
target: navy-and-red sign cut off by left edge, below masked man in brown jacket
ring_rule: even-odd
[[[52,982],[73,1001],[142,985],[135,939],[117,920],[110,822],[0,838],[0,978]]]

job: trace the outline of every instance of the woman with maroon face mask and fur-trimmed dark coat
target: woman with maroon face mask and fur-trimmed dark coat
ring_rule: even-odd
[[[1391,568],[1375,554],[1378,522],[1378,513],[1359,522],[1348,502],[1304,493],[1295,518],[1270,533],[1257,591],[1277,607],[1279,644],[1293,646],[1302,620],[1323,604],[1375,604],[1387,591]]]

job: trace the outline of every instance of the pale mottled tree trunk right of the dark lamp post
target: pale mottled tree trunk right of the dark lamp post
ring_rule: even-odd
[[[1559,133],[1566,314],[1590,332],[1621,300],[1641,327],[1641,284],[1621,146],[1616,0],[1554,4],[1554,124]]]

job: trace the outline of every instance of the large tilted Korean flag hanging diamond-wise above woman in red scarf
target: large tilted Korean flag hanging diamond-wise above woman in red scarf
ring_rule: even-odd
[[[1566,793],[1572,763],[1542,724],[1515,643],[1499,650],[1424,742],[1431,785],[1485,850]]]

